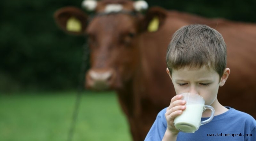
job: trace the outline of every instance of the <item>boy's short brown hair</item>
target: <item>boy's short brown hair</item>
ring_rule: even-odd
[[[173,70],[204,66],[216,71],[220,78],[226,68],[226,44],[221,34],[207,25],[187,25],[173,34],[166,63]]]

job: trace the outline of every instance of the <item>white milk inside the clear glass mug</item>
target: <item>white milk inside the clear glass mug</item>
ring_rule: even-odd
[[[203,110],[204,104],[186,105],[186,110],[175,117],[174,126],[182,132],[194,133],[200,126]]]

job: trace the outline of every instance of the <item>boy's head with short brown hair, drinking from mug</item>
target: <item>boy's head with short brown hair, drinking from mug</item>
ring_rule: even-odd
[[[180,28],[168,46],[166,62],[176,94],[199,94],[206,105],[220,106],[218,90],[230,69],[226,68],[226,44],[219,32],[206,25]]]

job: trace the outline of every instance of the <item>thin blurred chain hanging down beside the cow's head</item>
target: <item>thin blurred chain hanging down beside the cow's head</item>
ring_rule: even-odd
[[[73,135],[74,135],[74,130],[76,127],[76,120],[77,120],[77,116],[78,116],[78,110],[79,110],[79,106],[80,106],[80,101],[81,101],[81,97],[82,97],[82,91],[84,89],[84,82],[85,82],[85,71],[87,69],[87,63],[88,63],[88,58],[89,58],[89,47],[88,47],[88,43],[85,43],[83,45],[83,56],[82,56],[82,64],[81,64],[81,72],[80,72],[80,81],[78,84],[78,92],[76,94],[76,101],[75,101],[75,107],[74,107],[74,111],[73,111],[73,116],[72,116],[72,122],[71,122],[71,126],[70,126],[70,130],[69,130],[69,134],[68,134],[68,139],[67,141],[72,141]]]

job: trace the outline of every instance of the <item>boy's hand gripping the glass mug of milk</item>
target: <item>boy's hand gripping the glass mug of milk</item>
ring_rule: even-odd
[[[179,130],[174,127],[173,121],[176,116],[182,114],[186,109],[186,101],[181,100],[182,95],[176,95],[171,99],[170,106],[167,108],[165,118],[167,121],[167,130],[173,135],[177,135]],[[167,131],[168,132],[168,131]]]

